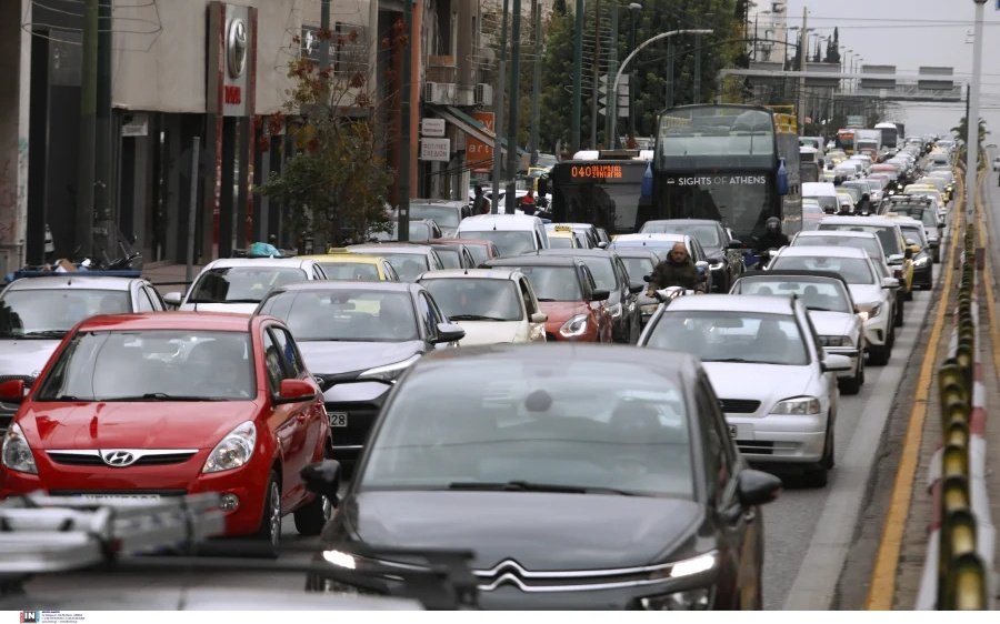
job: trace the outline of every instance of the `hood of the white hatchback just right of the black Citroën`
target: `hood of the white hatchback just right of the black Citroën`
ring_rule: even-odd
[[[812,381],[812,366],[779,366],[738,362],[704,362],[709,381],[720,399],[753,399],[764,410],[771,403],[807,394]]]

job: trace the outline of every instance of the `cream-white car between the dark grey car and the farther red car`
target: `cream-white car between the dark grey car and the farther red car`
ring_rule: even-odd
[[[546,342],[548,315],[523,273],[510,269],[428,271],[417,279],[448,319],[466,330],[462,346]]]

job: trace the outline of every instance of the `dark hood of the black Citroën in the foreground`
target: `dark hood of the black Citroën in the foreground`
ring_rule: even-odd
[[[468,548],[477,570],[506,560],[532,571],[598,570],[658,563],[703,517],[698,503],[666,497],[364,492],[344,501],[333,533],[347,530],[369,545]]]

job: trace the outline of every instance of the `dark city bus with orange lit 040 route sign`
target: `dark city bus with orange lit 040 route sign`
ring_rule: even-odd
[[[610,234],[638,232],[650,219],[652,150],[581,151],[552,167],[552,221],[593,223]]]

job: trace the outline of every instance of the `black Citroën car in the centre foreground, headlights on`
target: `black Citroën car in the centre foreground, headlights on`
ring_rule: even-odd
[[[303,476],[336,500],[336,462]],[[373,545],[471,550],[483,608],[760,608],[758,505],[780,485],[747,467],[687,354],[438,352],[392,390],[317,560],[362,570]]]

